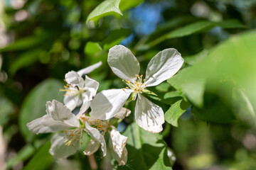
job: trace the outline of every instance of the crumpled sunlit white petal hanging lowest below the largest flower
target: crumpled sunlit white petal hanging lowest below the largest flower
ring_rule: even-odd
[[[114,128],[114,126],[111,128],[112,130],[110,131],[110,138],[112,141],[112,147],[114,152],[116,152],[119,158],[121,158],[128,137],[121,135],[118,130]]]

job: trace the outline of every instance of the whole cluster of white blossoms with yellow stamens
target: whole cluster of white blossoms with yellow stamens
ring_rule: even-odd
[[[56,159],[75,154],[82,145],[83,133],[86,132],[92,140],[83,151],[85,155],[95,153],[100,147],[105,157],[106,140],[109,139],[112,157],[119,165],[126,164],[127,137],[121,135],[114,125],[117,125],[118,119],[122,120],[131,113],[127,108],[123,108],[129,96],[129,101],[137,100],[134,109],[137,124],[149,132],[163,130],[164,111],[149,101],[144,94],[154,94],[146,87],[156,86],[178,72],[183,64],[181,54],[172,48],[159,52],[149,62],[145,78],[139,75],[137,58],[122,45],[110,49],[107,62],[127,87],[100,91],[97,94],[99,83],[87,75],[85,79],[82,76],[100,67],[102,62],[78,72],[68,72],[65,74],[67,84],[64,89],[60,89],[65,91],[64,104],[55,100],[48,101],[46,115],[27,124],[28,129],[36,134],[58,132],[52,137],[50,147],[50,154]],[[78,107],[78,114],[73,114],[72,111]],[[90,113],[88,108],[91,108]]]

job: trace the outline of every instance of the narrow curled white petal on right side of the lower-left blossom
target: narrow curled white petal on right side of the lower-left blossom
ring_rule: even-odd
[[[105,157],[107,154],[106,142],[104,137],[100,134],[99,130],[92,128],[87,122],[85,122],[85,132],[87,132],[93,140],[100,143],[103,157]]]

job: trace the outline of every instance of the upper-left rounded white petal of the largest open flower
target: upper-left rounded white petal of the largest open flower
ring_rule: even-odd
[[[123,45],[116,45],[110,48],[107,62],[114,74],[121,79],[134,81],[131,77],[139,74],[140,67],[137,58],[134,57],[131,50]]]

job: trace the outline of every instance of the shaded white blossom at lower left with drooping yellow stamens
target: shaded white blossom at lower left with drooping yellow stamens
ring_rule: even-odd
[[[46,103],[46,115],[31,121],[27,127],[32,132],[59,132],[51,139],[50,154],[56,159],[65,158],[78,151],[82,145],[82,132],[87,132],[93,140],[101,145],[103,156],[106,155],[106,143],[98,130],[92,128],[80,117],[71,113],[63,103],[53,100]]]

